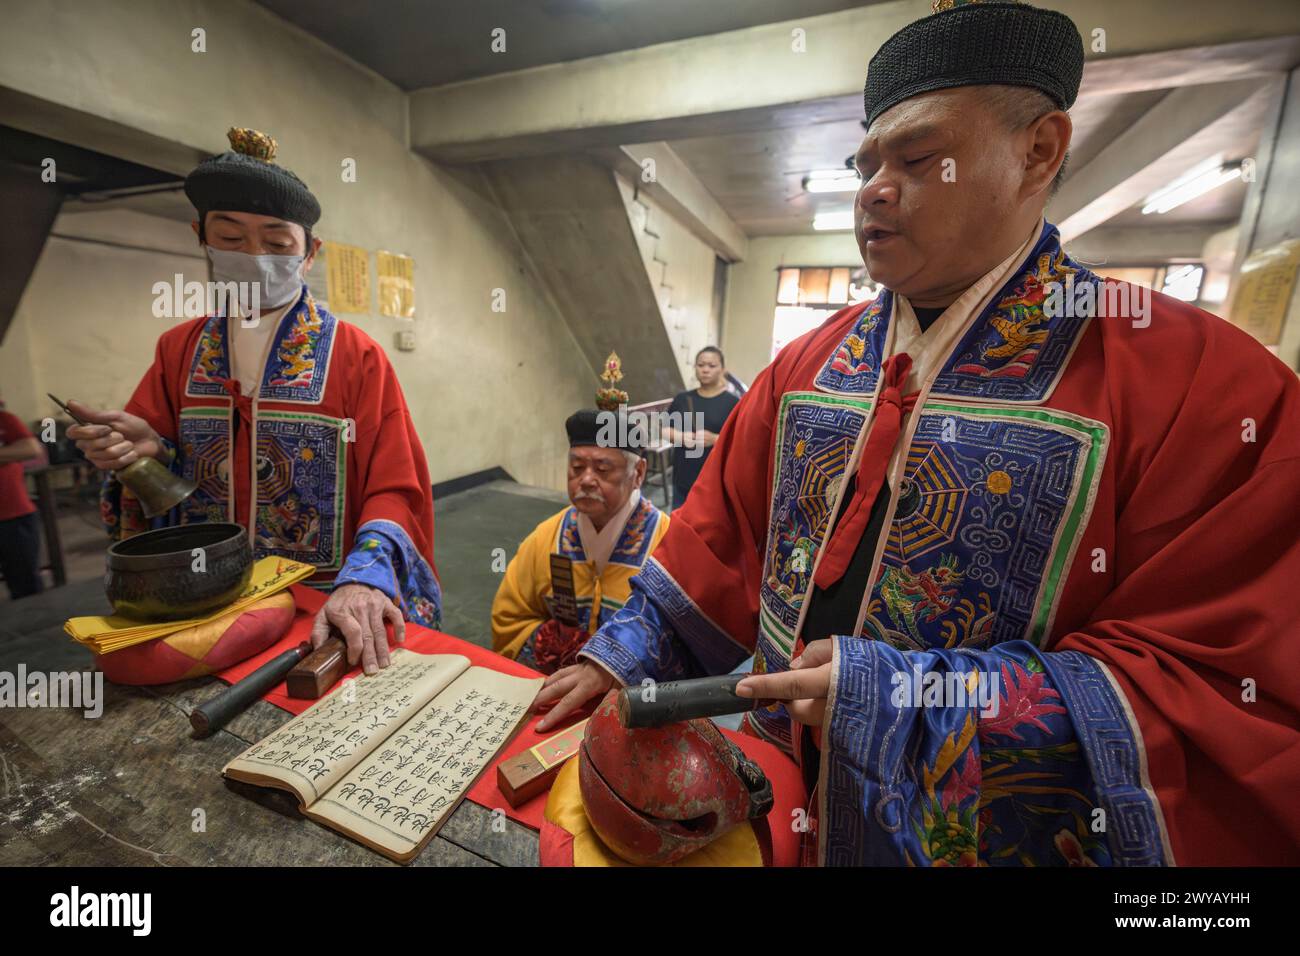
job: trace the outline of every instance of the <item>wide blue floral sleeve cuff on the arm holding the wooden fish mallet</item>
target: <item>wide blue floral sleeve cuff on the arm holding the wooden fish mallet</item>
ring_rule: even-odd
[[[1027,641],[979,652],[835,641],[823,740],[824,862],[1158,861],[1150,845],[1158,832],[1134,822],[1153,818],[1149,804],[1145,813],[1131,806],[1140,787],[1096,773],[1098,760],[1117,762],[1108,749],[1132,744],[1115,709],[1091,702],[1089,695],[1113,691],[1096,661],[1043,653]],[[1089,676],[1078,676],[1079,669]],[[1098,734],[1089,730],[1093,711],[1108,722]],[[1136,761],[1118,763],[1136,773]]]

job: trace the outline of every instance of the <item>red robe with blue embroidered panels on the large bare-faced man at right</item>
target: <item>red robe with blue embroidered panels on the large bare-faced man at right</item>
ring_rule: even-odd
[[[879,484],[863,451],[901,418],[872,587],[833,639],[819,860],[1295,864],[1296,376],[1050,225],[1009,263],[920,381],[884,381],[889,291],[785,347],[581,656],[627,684],[786,669],[842,479]],[[748,717],[801,756],[784,708]]]

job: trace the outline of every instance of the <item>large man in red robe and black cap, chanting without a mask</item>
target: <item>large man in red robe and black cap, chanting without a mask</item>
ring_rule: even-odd
[[[885,291],[759,375],[540,704],[754,653],[746,726],[815,784],[823,864],[1297,862],[1296,376],[1070,259],[1079,34],[945,7],[867,74]]]

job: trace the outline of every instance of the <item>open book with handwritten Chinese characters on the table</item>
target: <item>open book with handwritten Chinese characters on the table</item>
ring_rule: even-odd
[[[523,723],[542,678],[393,650],[222,767],[295,793],[307,817],[410,862]]]

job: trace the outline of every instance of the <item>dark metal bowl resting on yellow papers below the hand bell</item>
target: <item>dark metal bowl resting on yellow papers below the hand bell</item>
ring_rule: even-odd
[[[185,620],[231,604],[251,578],[252,549],[240,525],[182,524],[109,548],[104,593],[122,617]]]

